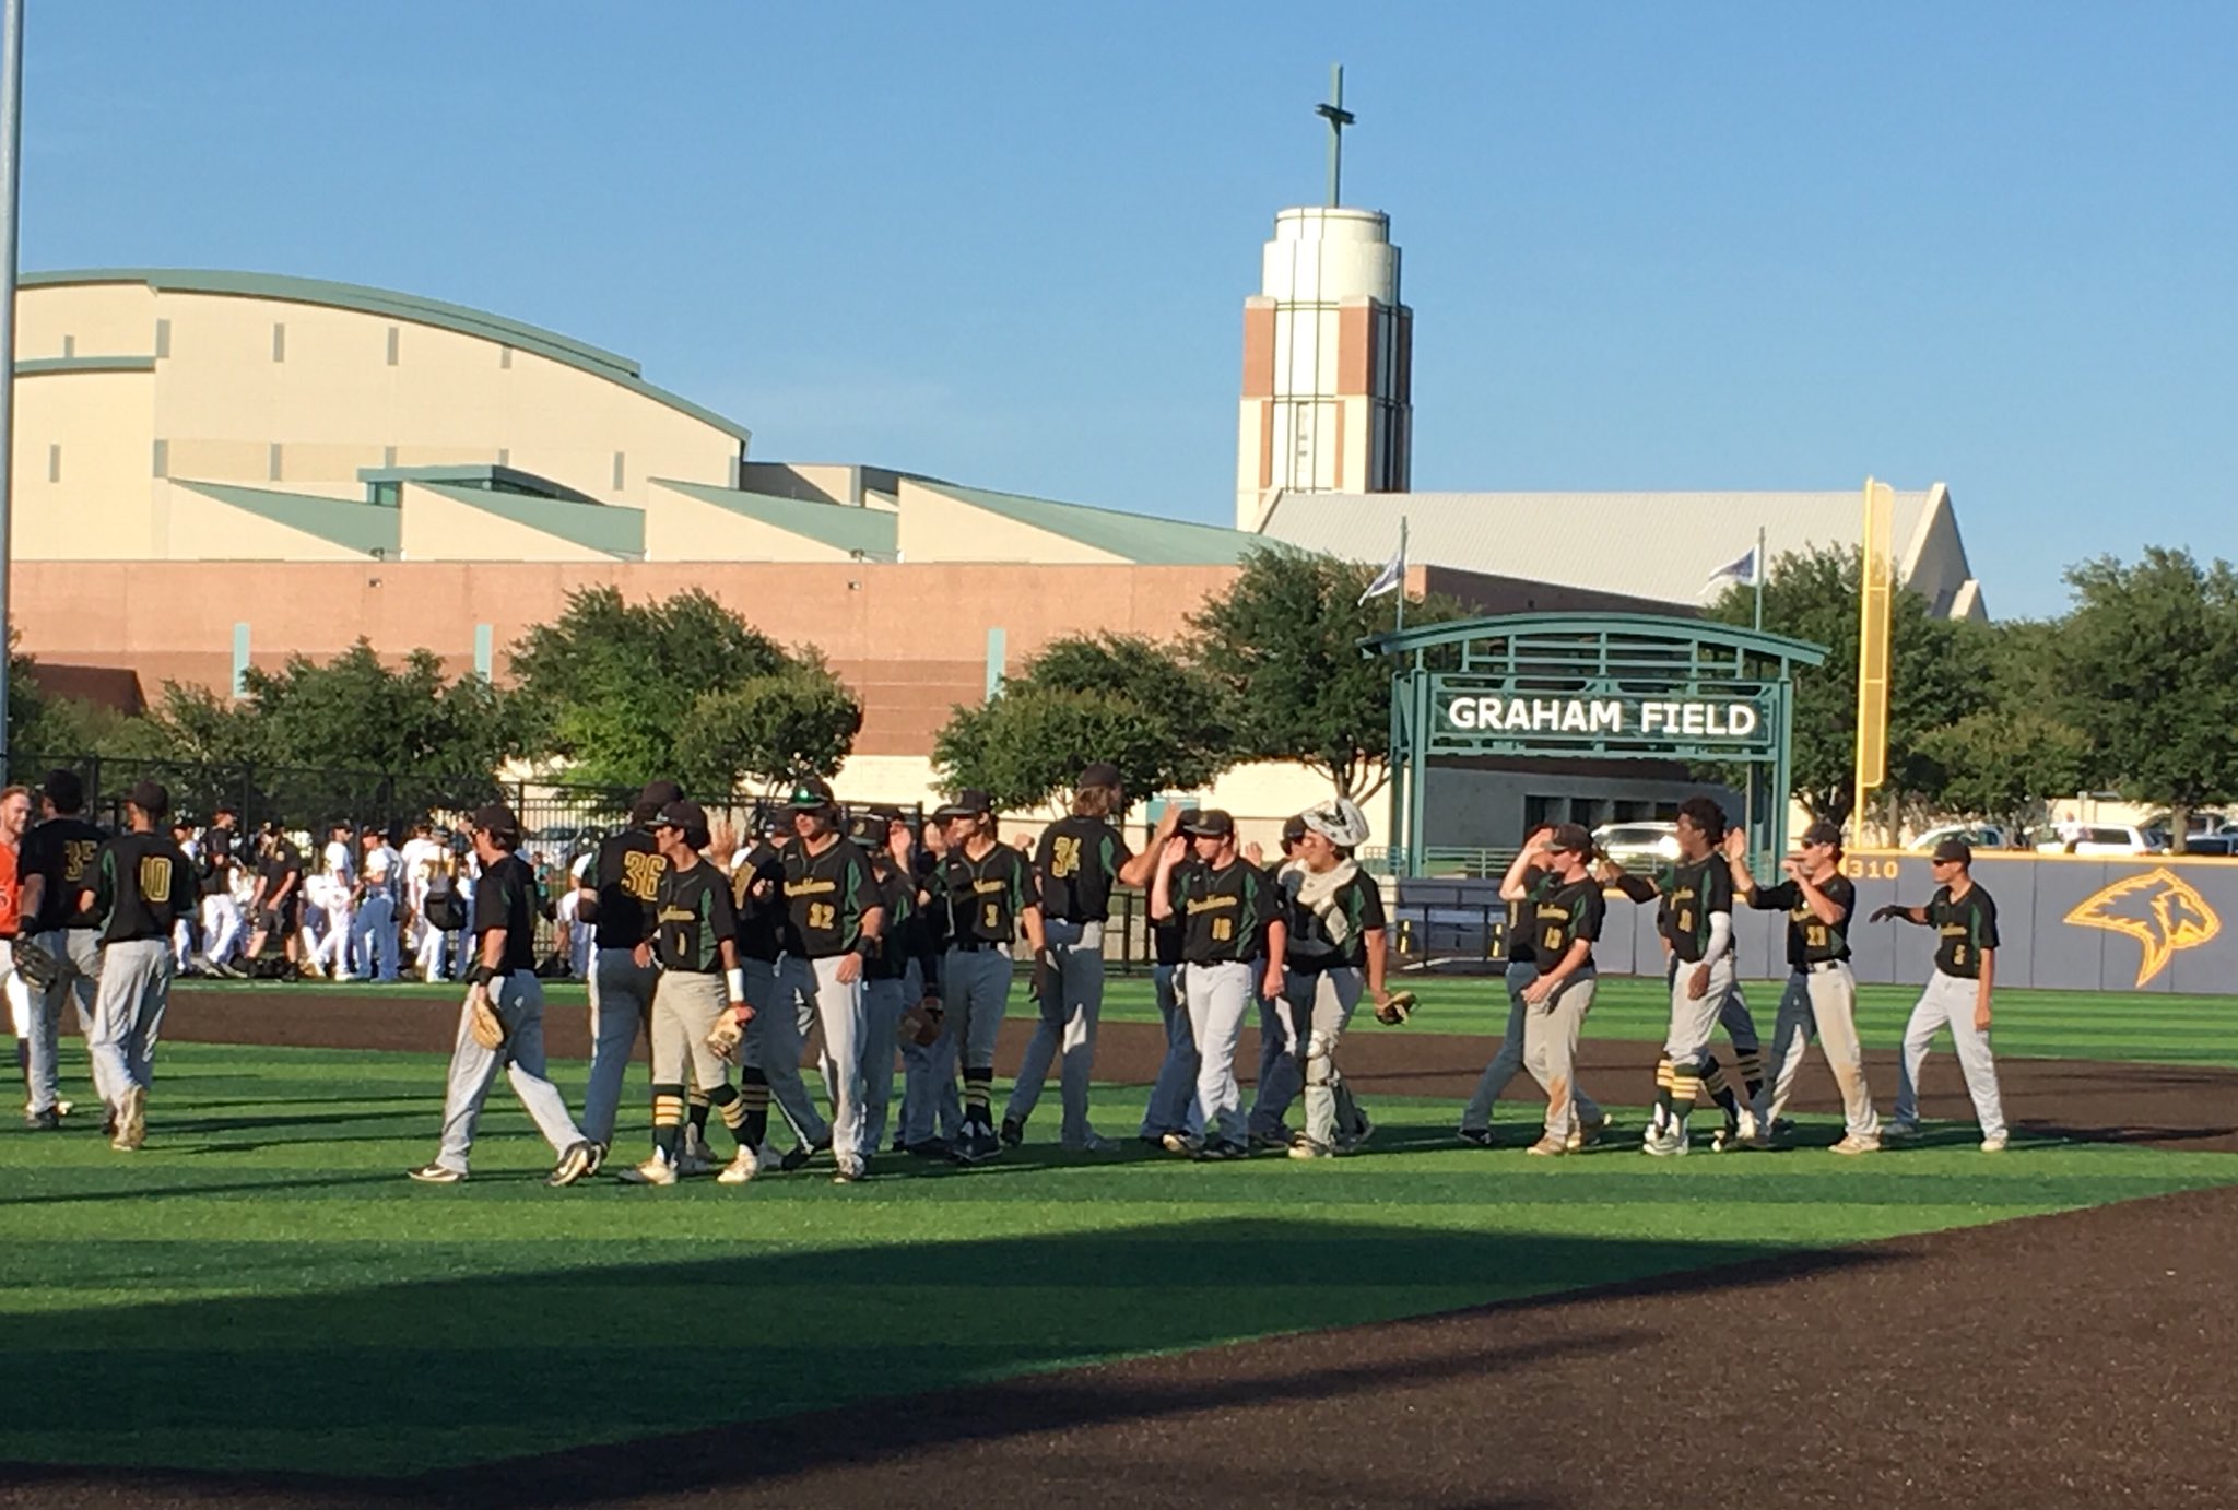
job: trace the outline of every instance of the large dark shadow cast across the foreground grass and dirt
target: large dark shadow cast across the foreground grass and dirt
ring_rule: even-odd
[[[1240,1374],[1233,1356],[1206,1353],[1202,1367],[1155,1387],[1126,1371],[1076,1369],[1094,1360],[1473,1309],[1502,1291],[1564,1291],[1511,1302],[1544,1306],[1573,1302],[1578,1289],[1712,1293],[1889,1262],[1866,1248],[1296,1219],[671,1255],[647,1246],[620,1266],[56,1311],[43,1327],[67,1331],[74,1356],[98,1358],[132,1389],[90,1454],[103,1463],[11,1463],[0,1483],[74,1485],[87,1503],[101,1499],[94,1485],[116,1494],[163,1485],[186,1501],[302,1492],[318,1503],[398,1506],[745,1490],[1027,1432],[1267,1400],[1367,1403],[1392,1380],[1466,1385],[1538,1358],[1616,1353],[1634,1338],[1580,1331],[1533,1347],[1408,1356],[1345,1349],[1338,1367],[1271,1374],[1264,1358]],[[0,1360],[16,1378],[45,1367],[11,1351],[0,1347]],[[725,1367],[707,1376],[714,1385],[683,1385],[689,1358]],[[1018,1378],[1032,1374],[1041,1376]],[[750,1425],[676,1432],[680,1389],[712,1403],[703,1418],[736,1414]],[[13,1452],[0,1452],[87,1441],[83,1427],[81,1398],[45,1391],[9,1407],[0,1443]]]

